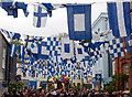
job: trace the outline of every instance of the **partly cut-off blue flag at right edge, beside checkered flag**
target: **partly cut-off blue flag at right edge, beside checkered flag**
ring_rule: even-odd
[[[124,37],[124,42],[127,46],[127,52],[132,52],[132,35]]]

